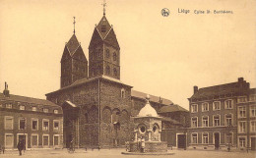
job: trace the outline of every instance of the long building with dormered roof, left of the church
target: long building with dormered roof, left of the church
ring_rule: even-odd
[[[7,83],[0,93],[0,144],[17,148],[62,148],[62,110],[43,99],[10,94]],[[25,141],[24,141],[25,140]]]

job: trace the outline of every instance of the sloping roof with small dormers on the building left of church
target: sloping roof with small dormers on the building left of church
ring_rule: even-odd
[[[36,105],[58,106],[49,100],[37,99],[37,98],[21,96],[21,95],[13,95],[13,94],[10,94],[9,97],[5,97],[3,93],[0,93],[0,100],[26,102],[26,103],[36,104]]]

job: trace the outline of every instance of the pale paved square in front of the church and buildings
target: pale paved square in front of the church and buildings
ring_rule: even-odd
[[[31,150],[18,155],[18,151],[6,151],[0,154],[0,158],[256,158],[256,152],[249,151],[205,151],[205,150],[169,150],[173,155],[123,155],[124,149],[101,149],[82,150],[77,149],[74,153],[68,153],[66,149],[59,150]]]

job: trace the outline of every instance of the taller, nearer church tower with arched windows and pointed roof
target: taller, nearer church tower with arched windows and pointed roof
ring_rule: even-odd
[[[120,79],[120,47],[105,13],[89,45],[89,78],[101,76]]]

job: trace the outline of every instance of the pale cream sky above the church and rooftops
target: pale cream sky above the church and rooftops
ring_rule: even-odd
[[[60,88],[60,60],[73,34],[88,59],[102,0],[0,0],[0,91],[45,99]],[[121,53],[121,80],[188,109],[199,88],[243,77],[256,87],[256,1],[106,0]],[[169,10],[169,16],[160,13]],[[190,13],[178,13],[190,10]],[[195,14],[210,10],[211,14]],[[232,14],[214,14],[214,10]]]

